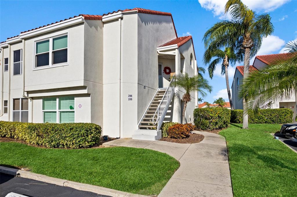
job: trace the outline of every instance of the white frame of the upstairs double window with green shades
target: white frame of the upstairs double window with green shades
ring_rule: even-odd
[[[64,35],[67,35],[67,48],[63,48],[63,49],[67,49],[67,62],[62,62],[62,63],[59,63],[59,64],[53,64],[53,52],[63,50],[63,49],[53,50],[53,38],[64,36]],[[49,40],[50,41],[49,51],[44,52],[44,53],[36,54],[36,43],[44,41],[44,40]],[[36,55],[45,54],[45,53],[49,53],[49,61],[48,61],[49,65],[36,67]],[[53,35],[51,37],[46,37],[44,39],[34,41],[34,65],[33,65],[33,70],[41,70],[41,69],[54,68],[54,67],[66,66],[66,65],[69,65],[69,32],[68,31],[66,33],[61,33],[60,32],[57,35]]]

